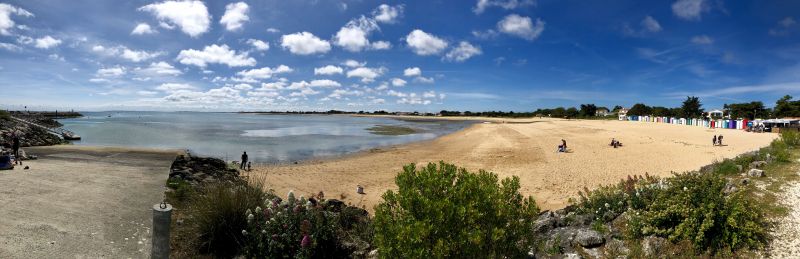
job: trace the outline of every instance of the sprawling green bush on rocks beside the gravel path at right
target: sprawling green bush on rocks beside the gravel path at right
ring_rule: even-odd
[[[760,248],[766,243],[763,213],[743,193],[725,196],[716,174],[683,173],[669,179],[652,204],[635,217],[634,232],[672,242],[689,241],[696,251]]]

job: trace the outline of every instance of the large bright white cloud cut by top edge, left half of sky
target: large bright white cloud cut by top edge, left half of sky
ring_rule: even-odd
[[[164,1],[145,5],[139,8],[159,19],[162,27],[181,27],[181,31],[192,37],[200,36],[208,31],[211,15],[202,1]]]

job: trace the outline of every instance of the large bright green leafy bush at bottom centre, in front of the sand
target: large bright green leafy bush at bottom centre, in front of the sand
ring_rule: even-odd
[[[539,209],[519,193],[519,178],[440,162],[397,175],[375,209],[375,243],[383,258],[524,257]]]

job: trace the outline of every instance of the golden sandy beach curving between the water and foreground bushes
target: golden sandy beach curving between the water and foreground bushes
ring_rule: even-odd
[[[518,176],[523,194],[534,196],[542,209],[557,209],[567,205],[583,187],[616,183],[628,175],[669,176],[671,172],[696,170],[757,150],[778,137],[628,121],[468,119],[489,122],[431,141],[331,160],[260,167],[253,174],[264,178],[267,186],[281,195],[289,190],[302,195],[323,191],[327,197],[343,198],[372,211],[386,190],[396,188],[394,177],[403,165],[443,160],[500,177]],[[712,146],[712,136],[720,134],[725,136],[725,145]],[[609,147],[611,138],[624,147]],[[561,139],[567,140],[569,153],[556,152]],[[355,192],[359,184],[366,194]]]

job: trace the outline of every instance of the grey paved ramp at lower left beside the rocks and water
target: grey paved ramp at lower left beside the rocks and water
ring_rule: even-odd
[[[147,258],[151,207],[176,152],[26,148],[0,171],[0,258]]]

